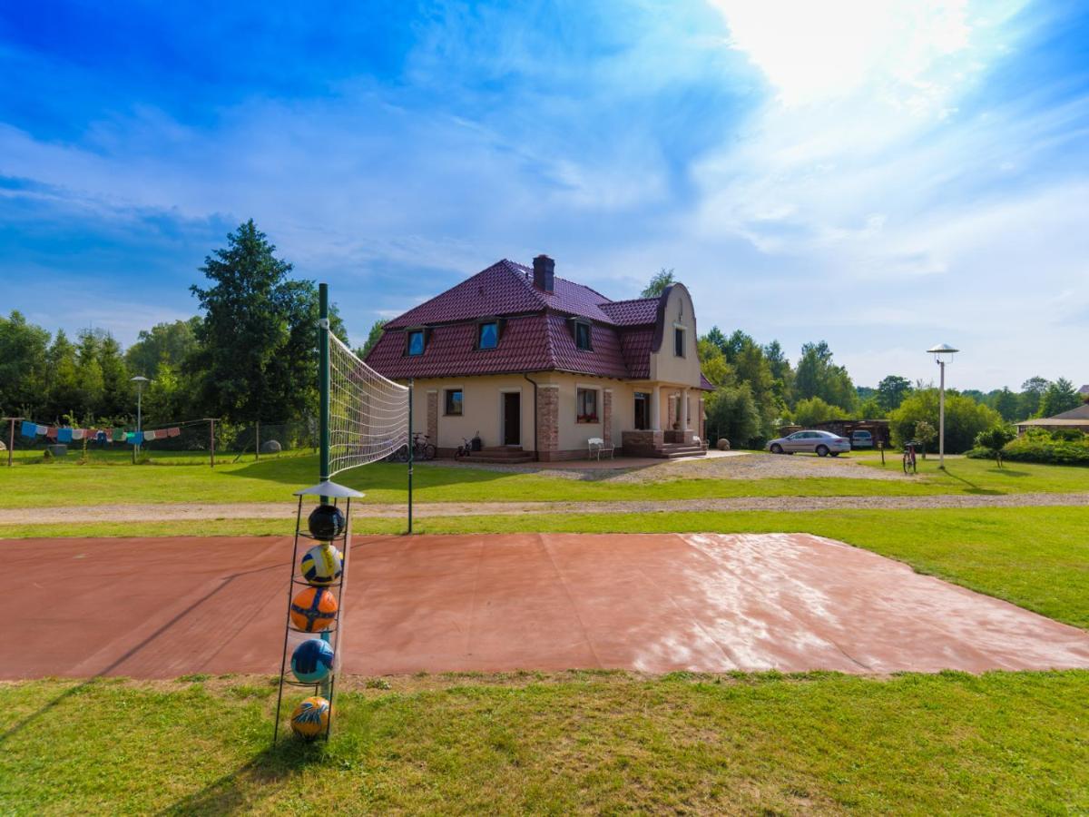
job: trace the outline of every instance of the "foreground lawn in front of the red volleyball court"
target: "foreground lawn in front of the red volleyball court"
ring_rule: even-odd
[[[1089,672],[394,679],[272,748],[265,679],[0,684],[0,812],[1084,813],[1087,702]]]

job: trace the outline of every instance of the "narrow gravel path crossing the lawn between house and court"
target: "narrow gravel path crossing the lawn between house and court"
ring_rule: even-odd
[[[734,497],[729,499],[631,500],[622,502],[420,502],[418,517],[524,513],[654,513],[686,511],[819,511],[828,509],[900,510],[927,508],[1026,508],[1089,505],[1089,493],[1008,493],[1001,497]],[[291,520],[296,505],[285,502],[234,504],[125,504],[0,509],[0,525],[87,522],[174,522],[185,520]],[[403,504],[363,505],[367,516],[396,517]]]

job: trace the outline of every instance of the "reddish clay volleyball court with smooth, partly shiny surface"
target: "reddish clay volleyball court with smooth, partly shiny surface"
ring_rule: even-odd
[[[2,678],[279,671],[289,538],[2,547]],[[346,599],[369,675],[1089,667],[1089,633],[808,535],[357,537]]]

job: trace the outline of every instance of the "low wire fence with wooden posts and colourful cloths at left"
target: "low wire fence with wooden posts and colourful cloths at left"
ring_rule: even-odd
[[[283,423],[223,423],[201,418],[180,423],[145,424],[135,437],[135,424],[78,429],[79,439],[61,434],[66,426],[45,426],[47,435],[23,434],[22,418],[0,428],[0,465],[40,462],[160,463],[203,465],[255,462],[317,452],[317,418]],[[73,430],[73,429],[69,429]],[[64,441],[61,441],[61,438]],[[138,441],[137,441],[138,439]],[[10,449],[10,450],[9,450]]]

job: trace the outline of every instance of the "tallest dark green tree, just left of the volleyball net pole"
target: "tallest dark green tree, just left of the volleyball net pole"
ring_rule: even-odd
[[[316,408],[317,288],[290,280],[292,265],[274,253],[250,219],[205,258],[211,285],[191,288],[205,318],[186,367],[199,377],[203,410],[230,420],[279,422]],[[330,318],[343,337],[335,312]]]

